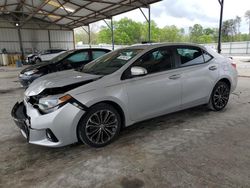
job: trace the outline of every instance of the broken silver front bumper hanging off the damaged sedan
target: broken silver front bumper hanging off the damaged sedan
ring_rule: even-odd
[[[14,105],[11,115],[29,143],[61,147],[78,142],[77,125],[84,113],[68,103],[54,112],[41,114],[24,100]]]

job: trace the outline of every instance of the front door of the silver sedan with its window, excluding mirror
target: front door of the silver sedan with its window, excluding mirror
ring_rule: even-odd
[[[128,111],[132,121],[141,121],[176,111],[181,104],[181,82],[175,68],[174,55],[169,47],[148,52],[131,67],[147,70],[140,77],[124,80],[128,95]],[[130,72],[131,67],[127,70]]]

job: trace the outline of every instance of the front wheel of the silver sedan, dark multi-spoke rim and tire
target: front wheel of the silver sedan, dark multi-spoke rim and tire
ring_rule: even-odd
[[[106,103],[90,108],[80,120],[77,134],[80,141],[92,146],[103,147],[113,142],[121,130],[121,117],[117,110]]]

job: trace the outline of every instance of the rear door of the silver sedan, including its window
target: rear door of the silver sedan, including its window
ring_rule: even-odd
[[[182,108],[207,103],[218,78],[218,66],[213,57],[194,46],[176,46],[175,52],[182,75]]]

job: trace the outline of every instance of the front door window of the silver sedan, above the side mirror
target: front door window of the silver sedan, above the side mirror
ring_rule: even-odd
[[[173,68],[173,59],[170,48],[160,48],[142,56],[132,66],[143,67],[151,74]]]

